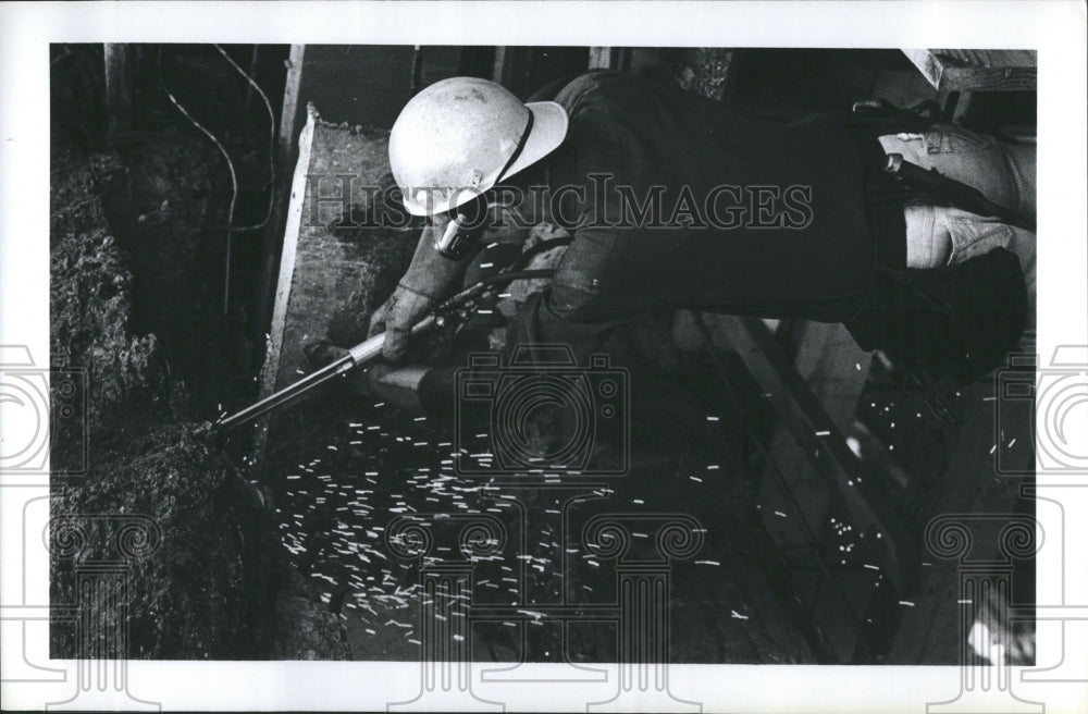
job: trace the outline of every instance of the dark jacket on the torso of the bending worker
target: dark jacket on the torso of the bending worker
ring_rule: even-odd
[[[579,76],[554,100],[570,125],[545,159],[547,184],[577,223],[548,298],[557,312],[840,321],[856,311],[876,251],[845,128],[756,121],[613,72]]]

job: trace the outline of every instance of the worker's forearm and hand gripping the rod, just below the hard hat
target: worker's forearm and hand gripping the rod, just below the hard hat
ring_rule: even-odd
[[[408,271],[390,299],[370,317],[368,336],[385,332],[382,356],[391,362],[404,357],[412,325],[460,284],[471,261],[471,254],[461,260],[450,260],[434,249],[435,238],[442,236],[447,223],[447,218],[436,218],[423,229]]]

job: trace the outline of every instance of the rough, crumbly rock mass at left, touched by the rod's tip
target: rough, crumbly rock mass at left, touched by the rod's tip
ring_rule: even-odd
[[[88,385],[84,431],[54,429],[54,461],[83,434],[88,468],[53,479],[51,596],[75,613],[51,628],[53,656],[349,657],[258,492],[193,438],[159,341],[134,334],[133,274],[101,201],[125,167],[63,147],[51,161],[51,348]],[[112,602],[76,587],[101,567],[123,573]]]

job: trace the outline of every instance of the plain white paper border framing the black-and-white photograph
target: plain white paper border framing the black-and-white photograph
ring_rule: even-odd
[[[0,4],[0,344],[27,345],[41,360],[49,354],[51,42],[957,47],[1039,52],[1038,234],[1044,247],[1038,260],[1038,348],[1046,360],[1058,345],[1088,344],[1085,12],[1076,0]],[[1081,480],[1079,487],[1085,485],[1088,481]],[[1053,488],[1050,497],[1064,509],[1061,524],[1055,521],[1058,509],[1039,508],[1050,539],[1064,528],[1064,561],[1038,562],[1040,602],[1064,576],[1061,604],[1074,605],[1084,619],[1088,488],[1043,475],[1038,488],[1041,495]],[[45,526],[23,518],[47,517],[48,508],[30,507],[47,494],[48,485],[0,488],[0,604],[5,619],[16,618],[20,607],[33,602],[48,604],[48,564],[24,562],[15,552],[24,532],[40,532]],[[1037,667],[1013,670],[1016,694],[1044,702],[1047,712],[1084,711],[1088,700],[1085,681],[1022,679],[1022,670],[1061,661],[1065,631],[1063,623],[1040,621]],[[28,656],[48,660],[48,642],[28,641],[27,647]],[[2,652],[5,670],[11,657],[23,656],[8,649]],[[1065,648],[1065,656],[1081,657],[1066,661],[1063,668],[1088,679],[1084,650]],[[40,709],[63,699],[73,686],[72,663],[51,666],[67,669],[69,681],[7,682],[3,709]],[[702,701],[707,712],[920,712],[927,702],[953,699],[960,687],[957,667],[671,665],[670,678],[673,692]],[[164,710],[369,711],[412,699],[419,690],[419,663],[133,661],[128,681],[133,694],[161,702]],[[562,694],[561,687],[548,687],[535,704],[544,702],[554,711],[584,706],[584,700],[566,701]],[[532,699],[519,694],[509,701],[515,710]],[[132,701],[119,693],[115,705],[126,704]]]

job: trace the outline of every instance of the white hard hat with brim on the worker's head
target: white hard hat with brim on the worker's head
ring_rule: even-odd
[[[466,204],[562,144],[567,112],[503,86],[450,77],[412,97],[390,134],[390,167],[412,216]]]

